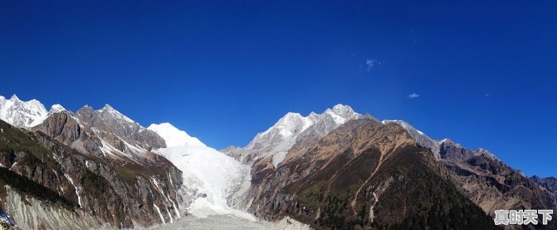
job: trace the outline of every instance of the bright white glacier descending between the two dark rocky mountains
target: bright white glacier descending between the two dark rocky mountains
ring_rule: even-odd
[[[227,204],[228,197],[234,192],[242,186],[249,187],[250,168],[247,165],[205,146],[169,123],[150,125],[149,129],[157,132],[170,146],[155,152],[182,171],[182,194],[189,213],[196,217],[230,215],[256,220],[252,215],[230,208]]]

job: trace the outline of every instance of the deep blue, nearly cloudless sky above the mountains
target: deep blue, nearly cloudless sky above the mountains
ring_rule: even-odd
[[[0,95],[108,103],[214,148],[343,103],[557,176],[556,6],[1,1]]]

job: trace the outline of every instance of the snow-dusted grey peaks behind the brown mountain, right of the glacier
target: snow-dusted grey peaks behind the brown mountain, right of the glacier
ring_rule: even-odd
[[[308,116],[301,116],[289,112],[271,128],[258,133],[246,147],[228,148],[223,152],[244,163],[272,156],[272,163],[276,167],[297,141],[324,137],[343,123],[360,116],[352,107],[340,104],[326,109],[322,114],[311,112]]]

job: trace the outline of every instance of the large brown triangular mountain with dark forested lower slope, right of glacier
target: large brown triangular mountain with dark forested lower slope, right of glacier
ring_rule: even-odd
[[[317,228],[495,228],[429,149],[400,125],[370,118],[293,146],[276,170],[271,159],[257,160],[237,202],[267,220],[288,215]]]

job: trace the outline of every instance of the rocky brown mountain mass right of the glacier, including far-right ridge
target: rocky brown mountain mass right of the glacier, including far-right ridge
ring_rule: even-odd
[[[408,223],[427,222],[425,219],[432,215],[436,220],[441,217],[438,215],[454,219],[452,215],[457,215],[455,210],[459,208],[466,210],[466,216],[478,219],[444,222],[439,227],[473,222],[482,223],[478,227],[489,227],[492,220],[487,216],[494,215],[494,210],[557,207],[554,194],[549,192],[551,185],[547,188],[551,183],[544,186],[543,182],[528,180],[483,148],[469,150],[449,139],[431,139],[405,121],[379,122],[372,116],[358,115],[323,129],[325,132],[313,132],[320,135],[303,135],[314,126],[283,125],[292,117],[297,116],[287,114],[245,148],[223,150],[253,164],[251,187],[236,195],[230,204],[265,220],[290,216],[325,228],[404,228],[409,227],[405,225]],[[285,130],[300,129],[303,131],[292,132],[297,133],[295,137],[285,138],[289,137]],[[273,130],[276,134],[269,135]],[[274,154],[269,154],[272,151],[260,151],[263,146],[281,146],[285,153],[280,164],[276,164]],[[398,189],[389,190],[393,187]],[[408,199],[411,193],[400,190],[415,192],[412,195],[422,198]],[[335,205],[331,206],[331,202]],[[440,206],[447,209],[439,209]],[[389,214],[397,207],[404,207],[400,210],[404,215]],[[453,213],[451,207],[455,208]]]

